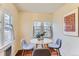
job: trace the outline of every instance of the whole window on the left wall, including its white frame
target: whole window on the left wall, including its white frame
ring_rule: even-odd
[[[4,12],[0,17],[0,46],[3,46],[13,39],[13,25],[12,16],[8,12]]]

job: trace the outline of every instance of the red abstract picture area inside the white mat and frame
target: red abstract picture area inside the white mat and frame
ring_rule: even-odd
[[[64,17],[66,32],[75,32],[75,13]]]

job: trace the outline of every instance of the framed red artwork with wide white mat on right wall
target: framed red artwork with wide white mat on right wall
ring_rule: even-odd
[[[79,36],[78,35],[78,8],[72,10],[64,16],[63,32],[65,35]]]

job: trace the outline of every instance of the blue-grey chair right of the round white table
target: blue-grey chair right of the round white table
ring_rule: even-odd
[[[48,44],[48,47],[56,49],[58,52],[58,55],[60,55],[59,48],[61,48],[61,44],[62,44],[61,40],[57,39],[55,43],[52,42],[52,43]]]

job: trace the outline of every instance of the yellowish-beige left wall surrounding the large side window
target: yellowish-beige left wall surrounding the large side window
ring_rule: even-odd
[[[0,4],[0,11],[3,12],[3,10],[9,11],[9,13],[12,15],[13,18],[15,40],[12,46],[12,55],[14,55],[19,49],[18,11],[13,4]]]

